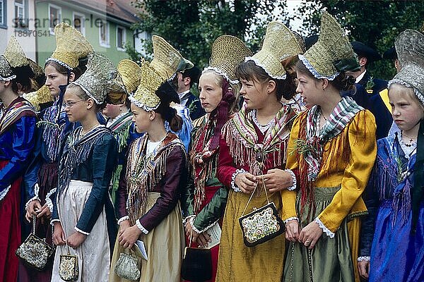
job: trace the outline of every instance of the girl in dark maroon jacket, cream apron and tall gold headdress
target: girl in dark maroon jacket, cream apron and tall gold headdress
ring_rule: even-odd
[[[129,147],[124,185],[117,192],[119,233],[114,247],[110,281],[123,281],[114,273],[121,252],[141,240],[147,260],[141,259],[138,281],[180,281],[184,230],[179,198],[187,185],[184,145],[165,130],[175,132],[181,118],[170,107],[178,99],[175,88],[147,62],[141,65],[141,83],[129,97],[139,133]]]

